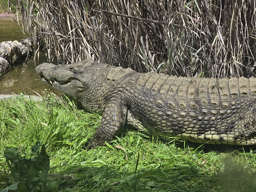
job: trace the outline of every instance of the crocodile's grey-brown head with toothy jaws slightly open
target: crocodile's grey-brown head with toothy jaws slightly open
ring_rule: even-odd
[[[36,67],[36,72],[41,76],[43,82],[54,89],[80,98],[88,85],[86,76],[83,74],[87,65],[90,65],[90,62],[77,62],[70,65],[41,63]]]

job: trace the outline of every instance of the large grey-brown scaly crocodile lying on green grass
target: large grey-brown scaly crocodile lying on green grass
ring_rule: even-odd
[[[131,125],[194,143],[256,143],[256,78],[177,77],[85,60],[42,63],[41,80],[102,116],[91,147]]]

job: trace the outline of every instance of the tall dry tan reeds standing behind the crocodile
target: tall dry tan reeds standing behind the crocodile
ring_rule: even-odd
[[[201,77],[247,76],[256,64],[255,0],[16,4],[28,37],[42,38],[48,62],[91,57],[136,71]]]

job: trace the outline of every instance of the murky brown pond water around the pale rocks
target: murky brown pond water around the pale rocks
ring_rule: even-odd
[[[23,32],[20,30],[15,18],[0,17],[0,42],[14,40],[20,42],[24,38]],[[44,53],[40,53],[38,63],[41,62],[47,62]],[[40,80],[35,67],[33,57],[12,66],[12,70],[3,75],[3,79],[0,80],[0,95],[11,95],[12,93],[37,95],[35,92],[42,95],[44,89],[50,91],[50,87]]]

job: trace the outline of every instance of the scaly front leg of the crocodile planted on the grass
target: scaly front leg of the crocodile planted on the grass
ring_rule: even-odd
[[[124,127],[127,116],[127,107],[121,101],[111,101],[104,110],[101,126],[96,130],[90,148],[105,145],[105,141],[114,140]]]

